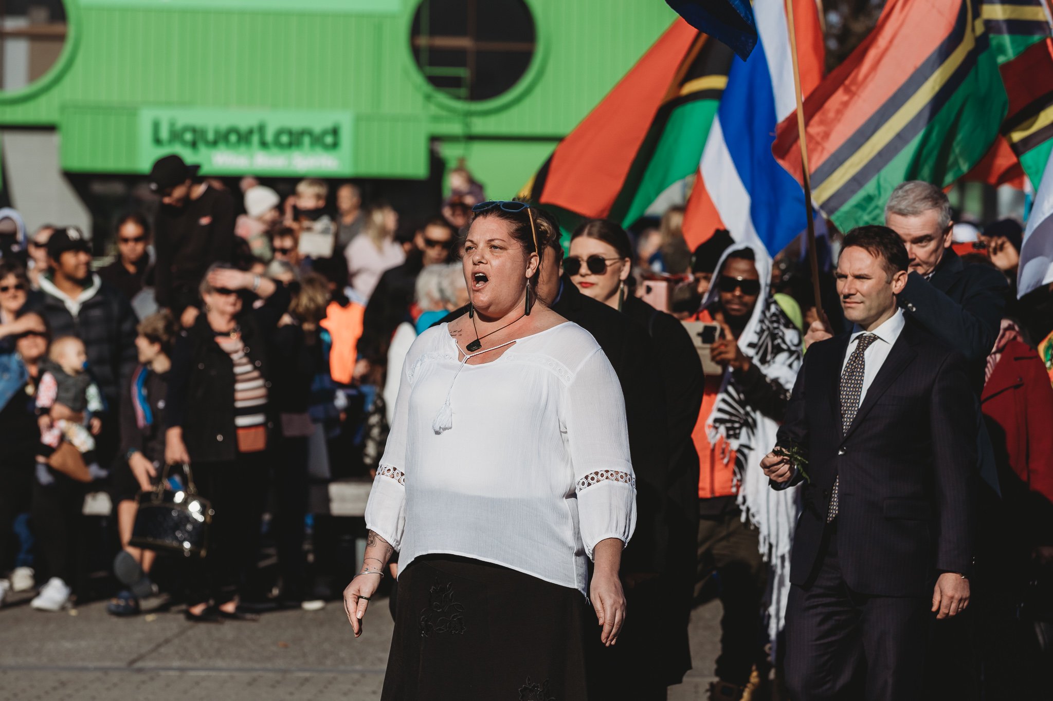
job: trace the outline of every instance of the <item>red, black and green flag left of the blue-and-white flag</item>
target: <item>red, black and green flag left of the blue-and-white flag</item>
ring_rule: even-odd
[[[677,20],[556,147],[520,197],[628,226],[698,168],[732,50]]]

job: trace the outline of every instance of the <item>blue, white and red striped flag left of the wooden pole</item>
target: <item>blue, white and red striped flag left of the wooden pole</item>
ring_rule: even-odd
[[[801,91],[822,78],[824,51],[815,0],[794,0]],[[790,26],[783,0],[755,0],[760,41],[733,62],[699,164],[683,232],[696,246],[718,228],[736,241],[763,245],[773,255],[807,225],[801,186],[772,156],[779,120],[796,110]]]

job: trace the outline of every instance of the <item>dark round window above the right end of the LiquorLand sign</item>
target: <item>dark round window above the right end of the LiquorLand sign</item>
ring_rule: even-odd
[[[489,100],[522,78],[534,57],[534,18],[523,0],[423,0],[413,18],[417,66],[460,100]]]

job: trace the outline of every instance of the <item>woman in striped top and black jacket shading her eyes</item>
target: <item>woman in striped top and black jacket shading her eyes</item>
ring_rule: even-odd
[[[243,303],[246,291],[264,304]],[[207,556],[191,562],[185,616],[246,620],[238,597],[256,568],[273,428],[269,346],[289,293],[221,264],[205,273],[200,292],[204,313],[176,341],[165,407],[165,460],[193,465],[197,490],[215,512]]]

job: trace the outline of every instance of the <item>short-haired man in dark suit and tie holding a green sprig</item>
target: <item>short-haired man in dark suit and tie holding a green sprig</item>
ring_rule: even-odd
[[[837,290],[853,330],[809,349],[761,461],[775,489],[803,483],[787,605],[794,701],[921,698],[932,614],[969,604],[978,409],[966,359],[897,305],[908,265],[892,229],[846,236]]]

